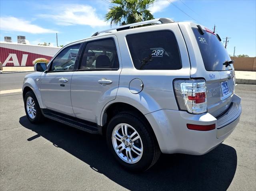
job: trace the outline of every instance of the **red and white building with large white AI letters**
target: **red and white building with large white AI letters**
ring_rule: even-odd
[[[50,60],[60,47],[0,42],[0,62],[3,66],[34,66],[37,58]]]

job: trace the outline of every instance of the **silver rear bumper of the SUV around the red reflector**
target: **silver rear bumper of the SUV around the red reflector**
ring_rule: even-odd
[[[177,110],[158,110],[146,114],[158,144],[163,153],[184,153],[202,155],[223,142],[239,122],[242,107],[241,98],[233,95],[230,108],[215,118],[209,113],[194,115]],[[210,125],[210,131],[189,130],[186,124]]]

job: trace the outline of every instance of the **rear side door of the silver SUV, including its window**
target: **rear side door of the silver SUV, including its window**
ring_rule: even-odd
[[[107,102],[116,98],[121,71],[115,35],[86,40],[79,69],[71,82],[71,100],[77,118],[96,122]]]

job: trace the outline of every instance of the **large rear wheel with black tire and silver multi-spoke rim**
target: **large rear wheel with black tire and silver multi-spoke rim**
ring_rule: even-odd
[[[127,133],[125,132],[125,126]],[[134,136],[131,136],[133,133]],[[137,138],[137,134],[140,138],[134,141]],[[120,139],[120,137],[123,138]],[[132,172],[146,171],[156,163],[161,154],[154,132],[148,129],[147,122],[131,112],[119,113],[110,120],[106,130],[106,141],[114,158],[122,167]],[[141,152],[137,148],[140,148]],[[137,153],[133,152],[134,150]],[[120,151],[121,153],[119,153]]]

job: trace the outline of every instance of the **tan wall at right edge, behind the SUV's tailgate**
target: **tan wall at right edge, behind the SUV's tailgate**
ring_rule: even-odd
[[[231,57],[237,71],[256,71],[256,57]]]

